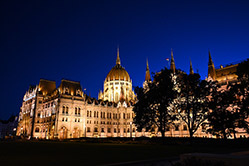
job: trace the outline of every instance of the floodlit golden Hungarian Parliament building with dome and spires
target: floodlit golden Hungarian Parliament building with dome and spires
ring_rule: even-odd
[[[238,64],[220,66],[216,69],[209,53],[208,78],[221,84],[237,79]],[[175,61],[171,51],[171,69],[175,70]],[[190,73],[193,72],[190,63]],[[145,72],[144,88],[151,81],[149,65]],[[122,67],[119,49],[116,65],[104,80],[104,89],[98,99],[84,94],[80,82],[61,80],[56,87],[55,81],[40,79],[36,86],[30,86],[23,97],[19,113],[17,136],[38,139],[69,139],[80,137],[154,137],[161,136],[158,130],[138,132],[133,123],[135,116],[133,105],[136,95],[132,89],[132,80]],[[165,136],[189,137],[187,126],[177,121],[178,128],[170,127]],[[245,136],[241,131],[238,136]],[[200,127],[195,137],[208,137],[205,128]]]

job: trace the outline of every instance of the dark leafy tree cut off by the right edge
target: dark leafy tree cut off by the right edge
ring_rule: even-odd
[[[210,133],[227,139],[236,129],[247,132],[249,115],[249,59],[238,64],[237,80],[223,85],[212,95],[212,113],[210,114]]]

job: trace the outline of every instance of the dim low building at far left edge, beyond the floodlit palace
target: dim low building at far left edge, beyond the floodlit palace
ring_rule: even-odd
[[[0,139],[10,138],[16,135],[18,116],[11,116],[8,120],[0,120]]]

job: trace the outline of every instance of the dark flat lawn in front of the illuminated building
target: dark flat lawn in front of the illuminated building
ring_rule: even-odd
[[[67,141],[0,141],[0,166],[105,165],[163,159],[183,153],[248,151],[249,140],[194,139],[78,139]]]

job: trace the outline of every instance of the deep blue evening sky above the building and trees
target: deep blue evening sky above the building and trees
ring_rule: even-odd
[[[207,75],[208,50],[215,66],[249,58],[246,0],[60,0],[0,2],[0,119],[18,114],[29,85],[40,78],[80,81],[97,97],[115,65],[142,86],[146,58],[151,72],[168,67]]]

